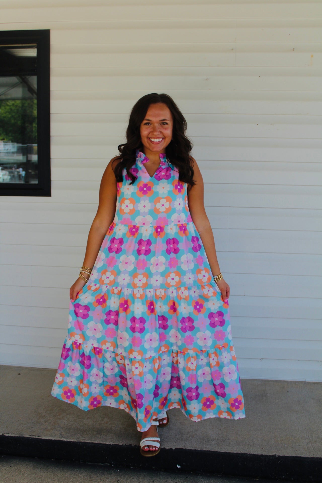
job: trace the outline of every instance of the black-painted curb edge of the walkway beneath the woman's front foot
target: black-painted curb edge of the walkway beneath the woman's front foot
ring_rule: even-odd
[[[219,451],[162,448],[145,458],[139,445],[119,445],[0,435],[0,454],[109,464],[166,471],[192,471],[294,482],[321,482],[322,458],[254,455]]]

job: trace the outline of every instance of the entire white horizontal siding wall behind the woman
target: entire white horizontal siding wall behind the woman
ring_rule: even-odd
[[[56,368],[101,175],[136,100],[166,92],[204,176],[241,377],[322,381],[321,1],[6,5],[0,29],[51,29],[52,197],[1,200],[0,362]]]

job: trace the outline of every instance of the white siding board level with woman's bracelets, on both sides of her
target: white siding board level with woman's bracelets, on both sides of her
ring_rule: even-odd
[[[18,287],[65,288],[66,293],[78,277],[76,267],[1,265],[0,285]],[[117,282],[116,282],[117,285]],[[197,282],[196,282],[197,285]],[[229,285],[235,295],[254,297],[319,298],[322,277],[229,273]]]

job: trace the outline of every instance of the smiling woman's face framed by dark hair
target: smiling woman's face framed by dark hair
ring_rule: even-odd
[[[166,104],[151,104],[140,126],[146,156],[149,153],[166,152],[166,147],[172,139],[172,127],[172,114]]]

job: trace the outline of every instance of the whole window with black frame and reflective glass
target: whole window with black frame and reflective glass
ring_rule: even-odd
[[[50,196],[49,30],[0,32],[0,194]]]

